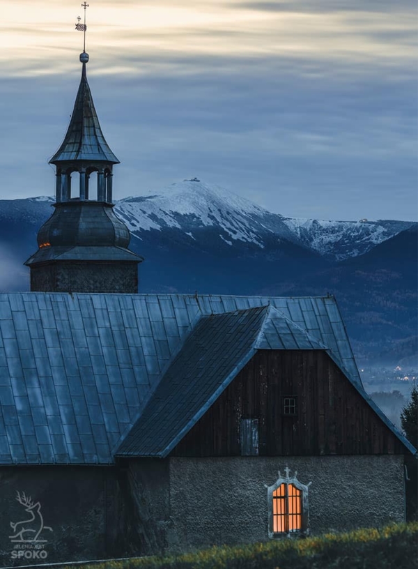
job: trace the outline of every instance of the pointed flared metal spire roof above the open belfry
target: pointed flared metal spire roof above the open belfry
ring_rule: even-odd
[[[50,164],[86,160],[88,162],[110,162],[118,164],[119,160],[111,151],[104,139],[98,115],[95,111],[93,96],[87,82],[86,63],[83,63],[82,80],[80,82],[70,125],[63,143],[56,151]]]

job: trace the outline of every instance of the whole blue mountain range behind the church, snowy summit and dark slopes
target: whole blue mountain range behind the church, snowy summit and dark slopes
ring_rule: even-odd
[[[23,263],[53,203],[0,202],[0,291],[29,290]],[[145,258],[141,292],[330,292],[358,355],[415,345],[417,223],[284,218],[196,179],[121,199],[115,211],[131,231],[130,248]]]

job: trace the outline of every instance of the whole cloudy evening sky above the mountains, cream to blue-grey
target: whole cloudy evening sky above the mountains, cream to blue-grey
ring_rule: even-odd
[[[88,3],[115,199],[196,176],[291,217],[417,220],[415,0]],[[3,3],[0,199],[54,193],[83,11]]]

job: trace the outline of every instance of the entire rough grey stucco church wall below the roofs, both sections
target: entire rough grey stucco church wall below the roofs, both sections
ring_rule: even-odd
[[[121,467],[1,466],[1,566],[184,551],[268,539],[265,485],[288,466],[309,487],[311,533],[404,519],[403,456],[127,460]],[[10,522],[39,501],[46,559],[13,559]],[[29,524],[30,527],[30,524]]]

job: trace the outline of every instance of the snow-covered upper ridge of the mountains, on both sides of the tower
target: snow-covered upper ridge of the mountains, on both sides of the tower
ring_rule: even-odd
[[[22,216],[40,225],[50,215],[52,197],[4,200],[0,220]],[[329,261],[358,257],[415,222],[327,221],[284,218],[229,190],[196,178],[173,183],[148,195],[116,202],[115,211],[141,241],[155,238],[171,246],[173,238],[186,247],[253,252],[278,250],[284,242],[310,250]],[[152,232],[158,232],[153,235]],[[165,247],[166,245],[164,245]]]

